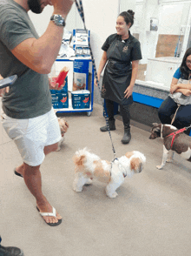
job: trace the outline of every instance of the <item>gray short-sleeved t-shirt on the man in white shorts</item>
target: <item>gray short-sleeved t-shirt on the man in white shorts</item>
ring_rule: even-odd
[[[52,105],[48,75],[30,70],[11,53],[30,37],[38,35],[26,10],[13,0],[0,0],[0,74],[19,76],[3,97],[3,111],[10,118],[36,118]]]

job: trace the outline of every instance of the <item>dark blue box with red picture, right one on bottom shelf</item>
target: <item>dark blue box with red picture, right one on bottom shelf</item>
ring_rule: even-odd
[[[89,109],[90,91],[88,90],[72,91],[71,98],[72,98],[73,109]]]

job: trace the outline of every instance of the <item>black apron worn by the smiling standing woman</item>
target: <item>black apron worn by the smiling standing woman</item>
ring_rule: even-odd
[[[118,104],[132,104],[133,97],[124,98],[124,91],[130,84],[132,64],[130,40],[124,43],[116,39],[107,51],[108,64],[102,79],[102,98]]]

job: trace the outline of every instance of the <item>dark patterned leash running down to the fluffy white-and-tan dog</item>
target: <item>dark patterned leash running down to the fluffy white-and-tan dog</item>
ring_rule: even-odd
[[[75,0],[76,2],[76,8],[80,14],[80,17],[82,17],[82,22],[83,22],[83,25],[84,25],[84,29],[86,30],[86,25],[85,25],[85,18],[84,18],[84,11],[83,11],[83,7],[82,7],[82,0],[79,0],[79,4],[77,3],[77,0]],[[98,77],[97,77],[97,71],[96,71],[96,66],[95,66],[95,58],[94,58],[94,55],[93,55],[93,52],[91,50],[91,46],[90,46],[90,43],[89,43],[89,51],[90,51],[90,55],[91,55],[91,60],[92,60],[92,64],[93,64],[93,67],[94,67],[94,73],[95,73],[95,78],[96,78],[96,83],[98,85],[98,88],[99,88],[99,91],[100,91],[100,95],[101,95],[101,89],[100,89],[100,84],[99,84],[99,81],[98,81]],[[105,111],[105,106],[103,104],[103,100],[102,100],[102,107],[103,107],[103,116],[105,118],[105,121],[106,121],[106,125],[107,125],[107,129],[109,131],[109,137],[110,137],[110,140],[111,140],[111,145],[112,145],[112,149],[113,149],[113,152],[114,152],[114,160],[115,160],[115,148],[114,148],[114,144],[113,144],[113,141],[112,141],[112,138],[111,138],[111,132],[109,130],[109,118],[106,114],[106,111]],[[114,161],[113,160],[113,161]]]

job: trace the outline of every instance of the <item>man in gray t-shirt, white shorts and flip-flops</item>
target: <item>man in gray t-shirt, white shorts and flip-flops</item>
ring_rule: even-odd
[[[62,217],[43,196],[39,171],[44,156],[56,150],[60,138],[48,74],[62,44],[64,19],[72,3],[73,0],[0,0],[0,75],[18,76],[9,91],[0,90],[3,127],[23,158],[23,165],[16,167],[15,173],[23,177],[36,198],[37,209],[50,226],[60,224]],[[41,13],[48,4],[54,7],[53,15],[43,36],[38,37],[28,11]]]

